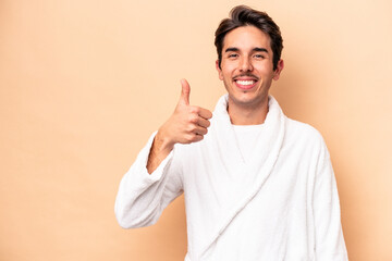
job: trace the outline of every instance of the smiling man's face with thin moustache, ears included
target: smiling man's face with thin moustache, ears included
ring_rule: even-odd
[[[229,104],[258,108],[268,101],[272,79],[279,79],[283,69],[280,60],[273,71],[270,37],[255,26],[242,26],[229,32],[223,41],[219,78],[229,92]]]

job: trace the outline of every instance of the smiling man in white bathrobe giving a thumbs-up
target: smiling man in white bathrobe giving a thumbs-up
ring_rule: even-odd
[[[347,260],[322,137],[268,95],[284,67],[279,27],[266,13],[236,7],[216,46],[228,95],[212,116],[189,105],[181,82],[173,115],[120,184],[120,225],[154,224],[184,191],[187,261]]]

